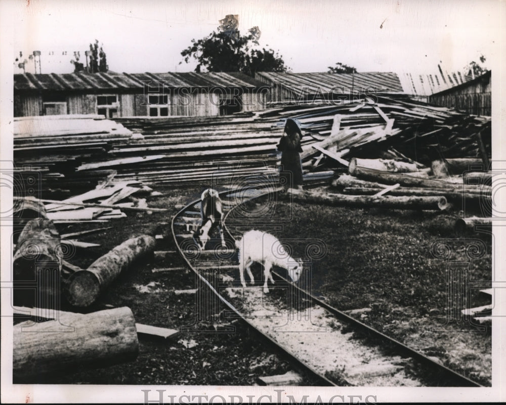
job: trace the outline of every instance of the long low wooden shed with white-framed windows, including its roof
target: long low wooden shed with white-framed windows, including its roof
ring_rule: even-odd
[[[265,108],[270,88],[245,74],[15,74],[14,116],[115,117],[228,115]]]

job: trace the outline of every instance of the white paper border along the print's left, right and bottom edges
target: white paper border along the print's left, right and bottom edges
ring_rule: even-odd
[[[32,0],[38,1],[38,0]],[[76,1],[76,0],[72,0]],[[83,0],[82,0],[83,1]],[[404,0],[400,0],[404,1]],[[452,1],[452,0],[449,0]],[[2,161],[2,169],[9,169],[9,162],[12,162],[13,149],[13,70],[12,58],[14,55],[13,38],[16,22],[23,18],[19,14],[19,3],[28,2],[28,0],[2,0],[0,2],[0,61],[2,66],[0,69],[0,160]],[[305,2],[306,4],[308,2]],[[231,9],[233,9],[231,2]],[[504,72],[506,71],[506,2],[497,0],[498,13],[491,16],[491,19],[499,19],[500,32],[496,33],[497,43],[493,55],[489,55],[489,66],[493,70],[492,76],[492,160],[494,168],[496,162],[498,164],[506,163],[506,142],[504,142],[504,130],[506,121],[505,96],[506,85],[504,80]],[[293,2],[290,2],[290,7]],[[307,7],[307,6],[306,6]],[[264,12],[269,12],[265,10]],[[44,18],[44,16],[41,16]],[[338,22],[336,22],[338,23]],[[483,27],[487,29],[487,27]],[[358,29],[359,30],[359,29]],[[498,166],[499,169],[506,169],[506,164]],[[0,212],[6,206],[12,206],[12,190],[2,187],[0,189]],[[500,211],[506,212],[504,209],[504,201],[500,202]],[[263,386],[112,386],[112,385],[12,385],[12,308],[9,302],[10,295],[5,294],[5,286],[10,280],[11,255],[10,251],[10,231],[9,227],[0,227],[1,245],[0,260],[2,274],[2,403],[9,402],[30,402],[30,403],[79,403],[79,402],[144,402],[144,390],[150,390],[150,403],[156,403],[156,390],[163,391],[164,403],[171,403],[171,397],[174,401],[179,399],[183,402],[207,402],[215,395],[224,396],[230,400],[229,395],[236,395],[236,403],[238,398],[242,398],[244,403],[254,402],[272,402],[281,398],[282,402],[288,402],[289,395],[299,403],[304,399],[307,402],[320,400],[327,402],[333,395],[342,395],[334,397],[334,403],[351,403],[351,402],[477,402],[477,401],[504,401],[506,400],[506,373],[504,365],[506,364],[506,347],[504,345],[504,337],[506,337],[506,324],[504,318],[494,319],[494,329],[492,330],[493,339],[493,356],[492,356],[492,387],[491,388],[404,388],[404,387],[263,387]],[[504,254],[506,241],[506,231],[501,223],[494,223],[494,265],[495,274],[500,275],[500,280],[506,281],[504,274],[506,255]],[[502,246],[502,248],[501,248]],[[506,294],[504,289],[495,290],[495,307],[494,316],[505,317],[504,308],[506,308]],[[502,336],[502,338],[501,338]],[[282,389],[282,391],[280,391]],[[277,391],[276,391],[277,390]],[[187,398],[185,395],[190,395]],[[194,395],[206,395],[206,397],[195,397]],[[248,397],[247,395],[250,395]],[[264,395],[264,396],[262,396]],[[279,396],[278,396],[279,395]],[[353,396],[352,396],[353,395]],[[319,398],[318,398],[319,397]],[[206,399],[207,398],[207,399]],[[368,400],[367,400],[368,398]],[[155,401],[155,402],[154,402]],[[220,403],[220,397],[214,398],[216,403]]]

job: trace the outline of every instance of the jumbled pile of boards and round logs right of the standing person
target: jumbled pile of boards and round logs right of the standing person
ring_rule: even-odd
[[[288,107],[259,112],[285,115]],[[491,120],[409,99],[378,97],[340,105],[291,106],[304,136],[303,166],[334,163],[340,193],[292,191],[298,200],[357,207],[463,212],[457,227],[489,223]],[[470,217],[470,215],[473,215]],[[481,219],[472,219],[475,215]],[[467,217],[467,218],[466,218]],[[462,225],[462,223],[465,225]]]

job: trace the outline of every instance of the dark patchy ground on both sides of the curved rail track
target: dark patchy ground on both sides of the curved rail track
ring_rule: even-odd
[[[178,211],[176,206],[198,198],[206,187],[156,187],[162,196],[149,198],[148,204],[170,208],[169,213],[129,213],[127,218],[105,225],[58,225],[60,234],[112,227],[79,238],[101,246],[78,250],[68,261],[86,267],[124,240],[143,233],[164,234],[166,239],[159,241],[156,249],[174,250],[170,222]],[[269,204],[269,214],[262,209],[265,204]],[[364,210],[272,200],[251,202],[243,211],[246,218],[230,218],[232,235],[261,229],[285,241],[293,256],[310,263],[311,283],[307,287],[315,295],[344,311],[367,308],[352,311],[351,315],[473,380],[490,385],[490,330],[480,330],[462,319],[462,308],[456,308],[457,298],[465,307],[487,304],[490,298],[479,293],[478,288],[462,290],[462,283],[456,283],[454,276],[460,268],[460,277],[467,278],[470,286],[480,282],[480,289],[490,287],[489,235],[456,235],[452,215],[429,211]],[[260,214],[248,215],[251,212]],[[454,266],[455,262],[463,265]],[[198,321],[202,308],[198,308],[195,295],[174,292],[195,288],[193,273],[152,272],[153,268],[171,266],[184,266],[177,254],[136,264],[110,286],[96,308],[90,309],[102,309],[104,304],[129,306],[138,323],[172,329],[188,327],[188,332],[169,341],[141,338],[139,356],[132,363],[76,370],[37,382],[251,385],[257,383],[259,376],[291,370],[246,327],[224,320],[220,316],[223,307],[218,307],[210,318]],[[216,333],[230,327],[234,333]],[[192,332],[195,330],[199,332]]]

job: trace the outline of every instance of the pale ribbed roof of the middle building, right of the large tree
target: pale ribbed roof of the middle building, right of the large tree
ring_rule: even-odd
[[[378,93],[403,93],[396,73],[275,73],[258,72],[256,78],[268,83],[281,85],[288,90],[317,93],[365,92],[374,89]]]

